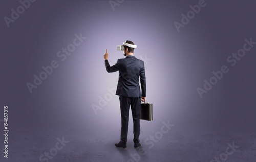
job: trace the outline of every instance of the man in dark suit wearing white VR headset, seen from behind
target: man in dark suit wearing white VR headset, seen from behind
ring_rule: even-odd
[[[132,48],[133,47],[133,48]],[[124,59],[118,59],[117,63],[110,66],[108,57],[109,54],[103,55],[105,67],[108,73],[119,71],[119,79],[117,84],[116,95],[119,95],[120,110],[121,110],[121,138],[116,147],[126,148],[127,132],[129,123],[129,109],[131,105],[133,114],[133,133],[134,133],[134,148],[139,148],[140,140],[140,104],[146,99],[146,77],[144,62],[137,59],[133,53],[136,48],[132,41],[126,40],[123,43]],[[141,94],[139,86],[139,78],[141,84]]]

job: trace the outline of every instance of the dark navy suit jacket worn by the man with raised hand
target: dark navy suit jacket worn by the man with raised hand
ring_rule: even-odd
[[[122,97],[146,97],[146,77],[143,61],[135,56],[126,56],[123,59],[118,59],[113,66],[110,66],[109,61],[105,60],[105,66],[108,73],[119,71],[116,95]]]

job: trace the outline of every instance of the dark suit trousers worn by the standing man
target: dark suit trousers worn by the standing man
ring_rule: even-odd
[[[133,134],[134,134],[134,143],[139,143],[140,136],[140,104],[141,98],[133,97],[119,97],[120,100],[120,110],[121,110],[121,140],[122,144],[127,142],[127,132],[128,132],[128,123],[129,123],[129,109],[131,105],[133,113]]]

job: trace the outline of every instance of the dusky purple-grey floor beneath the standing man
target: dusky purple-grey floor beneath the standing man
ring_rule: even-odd
[[[1,161],[47,161],[46,156],[39,160],[45,152],[53,154],[49,161],[193,162],[215,161],[214,158],[218,157],[220,161],[247,162],[256,159],[255,131],[217,132],[214,129],[189,128],[188,124],[177,123],[170,130],[164,128],[165,133],[161,134],[162,123],[159,129],[153,130],[143,127],[147,124],[146,121],[141,121],[142,146],[139,149],[133,148],[132,125],[129,127],[126,149],[114,146],[114,143],[119,141],[119,128],[105,128],[104,133],[82,128],[61,131],[10,130],[9,158],[7,160],[1,155]],[[154,140],[149,140],[150,135],[155,136]],[[56,149],[57,138],[66,141],[63,147],[57,145],[59,148],[62,147],[59,150]],[[229,144],[235,148],[228,149]]]

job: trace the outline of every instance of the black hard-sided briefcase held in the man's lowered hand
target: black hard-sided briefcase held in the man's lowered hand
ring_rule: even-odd
[[[153,104],[141,102],[140,119],[146,121],[153,121]]]

